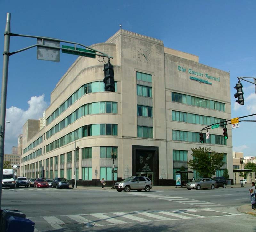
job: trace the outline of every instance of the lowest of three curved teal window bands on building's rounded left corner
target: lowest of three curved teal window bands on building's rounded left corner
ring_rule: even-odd
[[[62,147],[77,139],[87,136],[117,135],[117,124],[91,124],[78,128],[58,140],[46,145],[46,152]]]

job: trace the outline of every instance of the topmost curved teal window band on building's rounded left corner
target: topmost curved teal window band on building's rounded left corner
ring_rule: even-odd
[[[103,81],[96,81],[84,84],[76,92],[74,92],[59,108],[57,108],[47,119],[46,125],[49,125],[55,118],[64,112],[75,101],[83,95],[93,92],[105,92],[105,84]],[[117,82],[115,81],[115,92],[117,92]]]

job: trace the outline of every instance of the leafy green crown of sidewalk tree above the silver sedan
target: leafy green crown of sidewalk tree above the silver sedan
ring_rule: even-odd
[[[188,166],[202,177],[211,178],[224,164],[224,154],[211,151],[211,147],[192,148],[191,150],[193,159],[188,161]]]

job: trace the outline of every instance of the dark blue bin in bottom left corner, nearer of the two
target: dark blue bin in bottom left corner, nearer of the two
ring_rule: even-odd
[[[6,222],[6,232],[34,232],[35,223],[28,218],[10,216]]]

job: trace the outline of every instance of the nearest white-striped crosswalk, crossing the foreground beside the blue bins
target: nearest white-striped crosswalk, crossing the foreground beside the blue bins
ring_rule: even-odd
[[[202,215],[205,214],[205,215]],[[183,209],[183,210],[155,210],[155,211],[133,211],[133,212],[110,212],[91,213],[76,215],[59,215],[47,217],[29,217],[35,222],[35,231],[45,229],[57,230],[67,228],[63,225],[81,223],[81,227],[111,226],[128,223],[156,222],[167,220],[186,220],[208,217],[224,217],[240,214],[215,211],[211,209]]]

